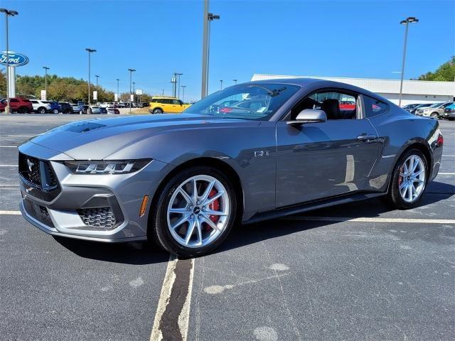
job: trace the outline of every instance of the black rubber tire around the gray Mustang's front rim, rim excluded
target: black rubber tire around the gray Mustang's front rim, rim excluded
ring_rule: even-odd
[[[172,237],[171,232],[168,229],[167,222],[167,207],[174,191],[179,185],[181,185],[181,183],[183,183],[183,181],[195,175],[210,175],[219,180],[225,187],[230,200],[229,220],[225,225],[225,229],[213,242],[205,247],[199,248],[185,247],[179,244],[176,239]],[[230,180],[223,173],[218,171],[218,169],[212,167],[195,166],[177,173],[171,178],[171,180],[168,181],[166,186],[159,193],[157,193],[157,197],[158,200],[156,200],[154,207],[151,207],[147,238],[149,239],[149,242],[154,242],[169,253],[176,254],[181,258],[202,256],[203,254],[213,251],[213,249],[224,242],[233,225],[237,221],[237,197],[235,195],[235,190],[230,183]]]

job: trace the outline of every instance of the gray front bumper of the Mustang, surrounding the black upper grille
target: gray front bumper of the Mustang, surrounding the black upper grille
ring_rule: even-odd
[[[167,163],[154,160],[129,174],[75,175],[53,161],[48,148],[28,142],[19,151],[48,163],[58,180],[58,189],[46,193],[20,175],[20,209],[28,222],[61,237],[99,242],[146,239],[151,197]],[[149,195],[148,207],[139,217],[144,195]]]

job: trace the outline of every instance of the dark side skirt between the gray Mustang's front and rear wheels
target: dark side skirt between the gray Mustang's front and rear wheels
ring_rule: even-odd
[[[334,205],[347,204],[349,202],[356,202],[360,200],[371,199],[372,197],[382,197],[387,193],[354,193],[343,195],[341,197],[331,197],[325,200],[318,200],[316,202],[306,202],[301,205],[283,207],[269,212],[261,212],[253,215],[250,220],[242,222],[242,224],[253,224],[255,222],[262,222],[263,220],[271,220],[286,215],[296,215],[297,213],[318,210],[323,207],[330,207]]]

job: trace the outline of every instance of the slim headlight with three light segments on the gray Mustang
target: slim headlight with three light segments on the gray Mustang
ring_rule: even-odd
[[[151,158],[121,161],[65,161],[73,174],[126,174],[144,168]]]

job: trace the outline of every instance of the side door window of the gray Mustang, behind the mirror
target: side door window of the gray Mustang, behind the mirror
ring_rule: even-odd
[[[291,119],[295,119],[304,109],[321,109],[326,112],[327,119],[355,119],[357,98],[333,90],[314,92],[292,109]]]

